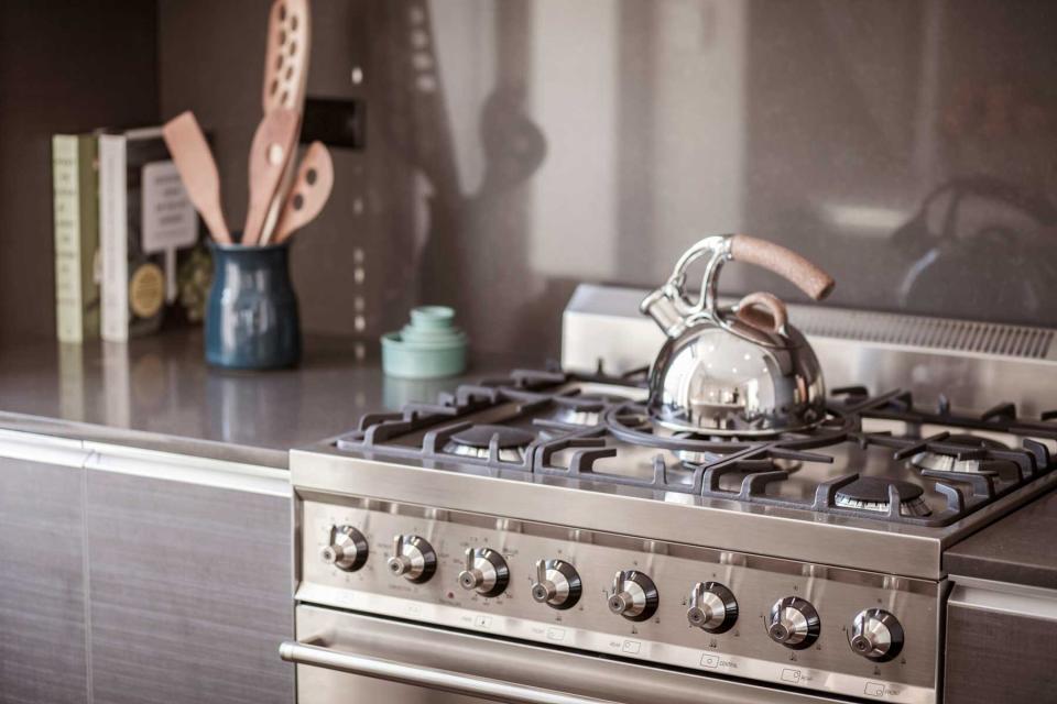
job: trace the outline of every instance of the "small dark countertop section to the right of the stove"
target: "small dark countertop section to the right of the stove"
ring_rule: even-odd
[[[1057,588],[1057,491],[944,553],[949,574]]]

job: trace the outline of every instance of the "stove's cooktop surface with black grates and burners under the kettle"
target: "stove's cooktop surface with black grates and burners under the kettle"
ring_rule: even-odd
[[[1057,411],[1010,404],[961,414],[909,392],[831,392],[809,432],[765,439],[674,432],[646,411],[642,373],[515,371],[435,404],[361,418],[335,447],[438,471],[534,475],[686,494],[731,508],[775,506],[882,524],[941,527],[1057,466]]]

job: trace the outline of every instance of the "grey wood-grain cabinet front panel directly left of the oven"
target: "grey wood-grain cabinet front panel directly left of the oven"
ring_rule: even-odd
[[[92,471],[94,701],[293,701],[290,499]]]

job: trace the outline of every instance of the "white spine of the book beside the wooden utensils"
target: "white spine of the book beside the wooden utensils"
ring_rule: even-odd
[[[99,249],[102,258],[102,338],[129,339],[126,139],[99,138]]]

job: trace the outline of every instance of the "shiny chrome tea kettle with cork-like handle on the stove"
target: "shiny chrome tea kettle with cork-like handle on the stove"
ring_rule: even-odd
[[[686,294],[686,270],[701,257],[708,258],[695,301]],[[709,436],[809,429],[826,418],[815,352],[771,294],[718,307],[719,271],[733,260],[781,274],[816,300],[833,287],[826,272],[764,240],[722,234],[691,246],[640,306],[667,336],[650,372],[650,414],[672,430]]]

